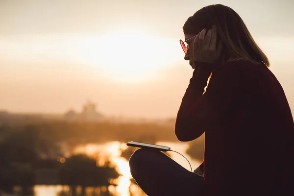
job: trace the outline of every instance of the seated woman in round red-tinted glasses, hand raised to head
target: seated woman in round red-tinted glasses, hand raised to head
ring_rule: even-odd
[[[134,179],[148,196],[294,196],[294,122],[267,56],[221,4],[197,11],[183,30],[194,73],[175,135],[184,142],[205,133],[204,176],[139,149],[130,158]]]

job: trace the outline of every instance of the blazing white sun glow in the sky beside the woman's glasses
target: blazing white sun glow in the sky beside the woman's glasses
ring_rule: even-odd
[[[158,77],[179,57],[174,40],[125,30],[97,37],[87,45],[85,61],[99,67],[104,77],[121,81],[148,81]]]

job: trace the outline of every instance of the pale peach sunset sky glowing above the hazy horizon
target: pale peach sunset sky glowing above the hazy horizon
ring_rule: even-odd
[[[230,6],[268,55],[294,111],[293,0],[0,0],[0,110],[174,117],[193,70],[182,26]]]

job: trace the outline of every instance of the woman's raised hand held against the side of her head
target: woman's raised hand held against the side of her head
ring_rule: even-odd
[[[215,64],[221,57],[222,42],[220,41],[217,48],[217,27],[213,25],[206,36],[204,28],[194,39],[193,59],[194,61]]]

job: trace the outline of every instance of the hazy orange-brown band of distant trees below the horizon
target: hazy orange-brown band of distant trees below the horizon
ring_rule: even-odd
[[[154,140],[176,142],[174,127],[156,123],[109,123],[109,122],[36,122],[20,125],[2,125],[1,135],[11,132],[21,132],[27,127],[36,132],[39,140],[56,141],[85,141],[108,142],[131,140]]]

